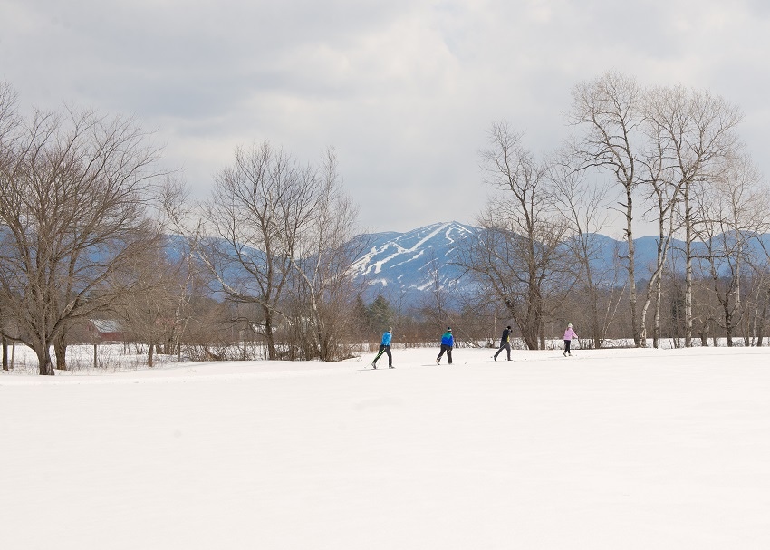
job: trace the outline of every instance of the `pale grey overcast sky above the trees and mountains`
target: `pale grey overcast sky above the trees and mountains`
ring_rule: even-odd
[[[0,0],[23,106],[136,115],[199,197],[237,145],[333,146],[374,231],[474,223],[491,123],[545,153],[574,84],[611,69],[736,103],[770,174],[768,46],[765,0]]]

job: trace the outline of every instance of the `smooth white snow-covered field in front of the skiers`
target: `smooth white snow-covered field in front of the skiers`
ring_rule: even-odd
[[[0,548],[770,548],[770,349],[437,352],[0,374]]]

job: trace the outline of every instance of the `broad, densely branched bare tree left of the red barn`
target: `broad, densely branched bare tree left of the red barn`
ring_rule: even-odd
[[[35,112],[0,171],[0,299],[53,374],[68,323],[136,288],[120,277],[158,238],[148,204],[159,148],[135,121]]]

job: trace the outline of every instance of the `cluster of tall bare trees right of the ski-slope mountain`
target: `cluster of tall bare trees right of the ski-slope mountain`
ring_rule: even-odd
[[[650,335],[655,346],[662,337],[690,346],[717,332],[728,345],[736,332],[761,344],[770,202],[739,138],[739,109],[705,90],[643,87],[620,72],[577,84],[572,98],[571,134],[541,159],[521,132],[493,124],[481,167],[505,193],[479,217],[486,231],[460,264],[503,304],[530,349],[544,347],[546,323],[566,319],[579,319],[595,347],[611,333],[636,346]],[[626,246],[614,269],[599,272],[596,234],[612,211]],[[657,227],[657,257],[643,273],[640,219]]]

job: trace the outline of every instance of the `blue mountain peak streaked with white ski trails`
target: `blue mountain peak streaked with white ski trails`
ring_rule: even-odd
[[[407,233],[376,233],[361,236],[367,252],[353,265],[368,285],[366,298],[382,294],[389,299],[413,299],[440,285],[455,285],[461,275],[452,265],[457,246],[480,231],[456,221],[419,227]]]

